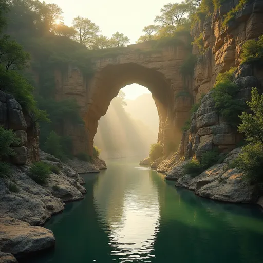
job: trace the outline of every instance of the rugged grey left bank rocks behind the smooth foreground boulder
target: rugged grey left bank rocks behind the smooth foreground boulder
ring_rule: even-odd
[[[52,173],[47,183],[39,185],[29,176],[29,167],[13,167],[10,178],[0,178],[0,211],[2,215],[25,221],[32,226],[44,224],[53,214],[64,210],[64,202],[83,199],[86,189],[83,179],[60,160],[41,151],[41,160],[60,168],[59,175]],[[53,161],[48,161],[53,160]],[[56,162],[57,160],[57,162]],[[18,192],[9,190],[14,183]]]

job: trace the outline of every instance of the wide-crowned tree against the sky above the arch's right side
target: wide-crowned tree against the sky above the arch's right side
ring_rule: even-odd
[[[169,27],[175,31],[179,25],[185,22],[185,15],[191,11],[190,4],[182,2],[180,4],[166,4],[161,9],[161,15],[155,17],[155,22],[160,23],[161,27]]]

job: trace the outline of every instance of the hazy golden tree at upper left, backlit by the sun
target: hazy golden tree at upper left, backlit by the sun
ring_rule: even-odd
[[[40,15],[46,30],[50,30],[55,23],[62,20],[62,9],[56,4],[45,4],[40,8]]]

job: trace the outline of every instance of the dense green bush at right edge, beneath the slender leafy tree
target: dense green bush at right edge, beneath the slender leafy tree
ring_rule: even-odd
[[[243,170],[244,178],[251,183],[263,183],[263,144],[257,142],[242,148],[236,159],[236,166]]]

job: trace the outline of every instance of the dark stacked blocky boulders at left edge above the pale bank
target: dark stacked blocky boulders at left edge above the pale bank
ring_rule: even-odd
[[[16,156],[11,161],[16,165],[29,164],[39,160],[39,129],[32,116],[24,115],[21,105],[12,95],[0,91],[0,125],[14,130],[20,139],[15,144]]]

